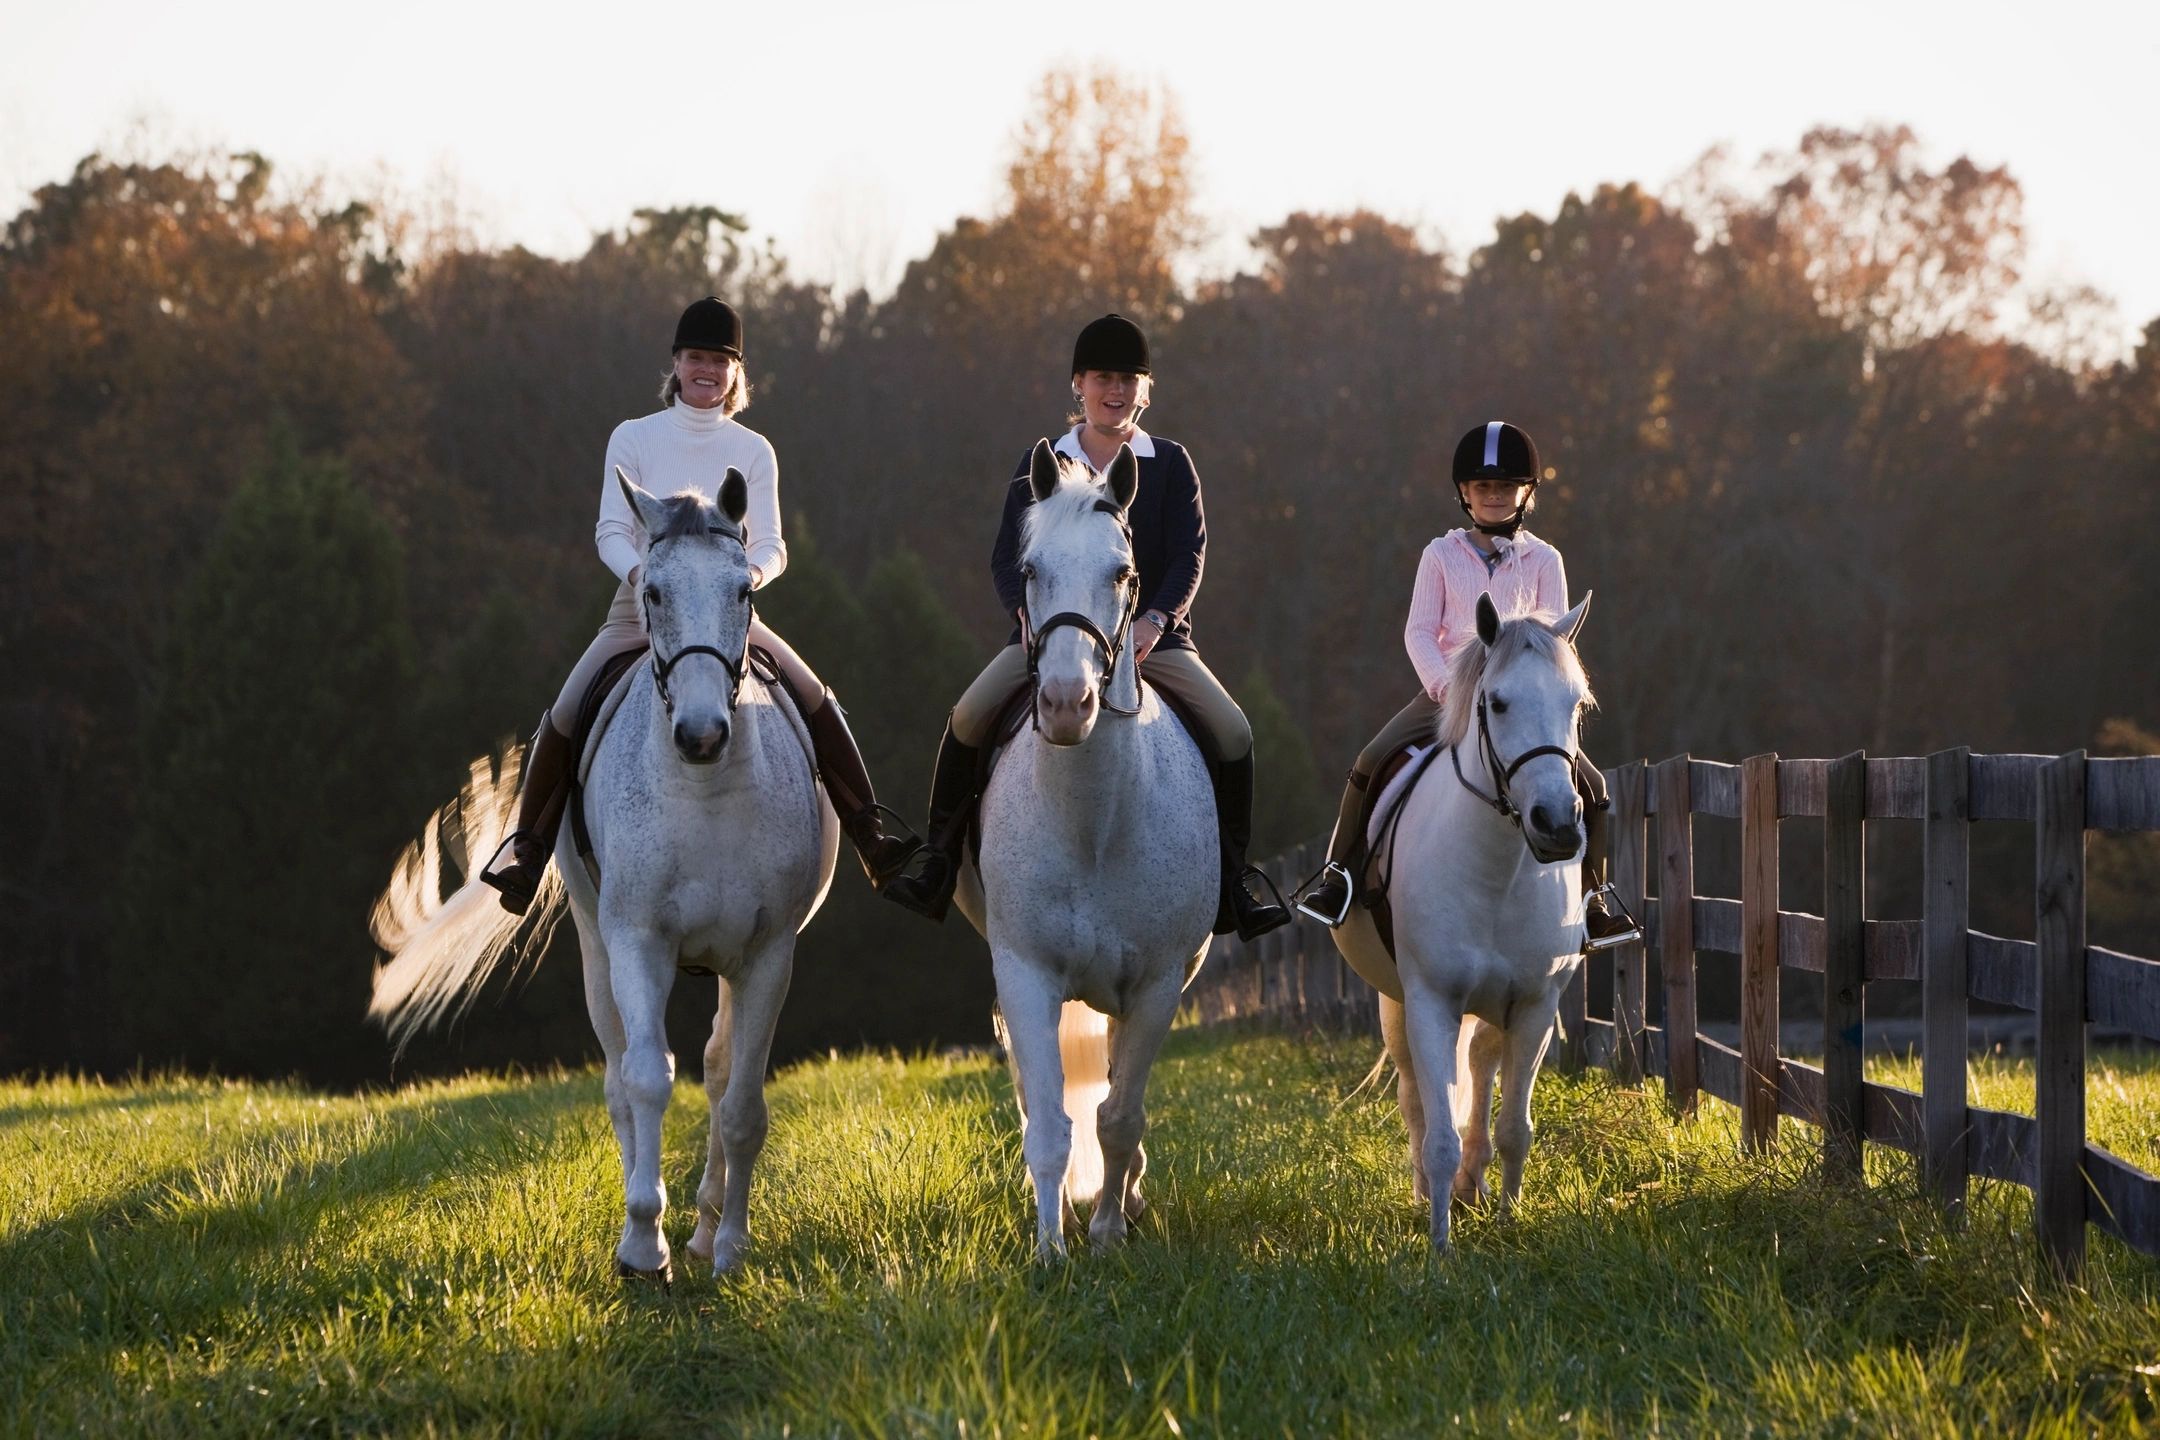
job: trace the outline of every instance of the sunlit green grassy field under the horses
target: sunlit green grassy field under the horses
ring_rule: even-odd
[[[1153,1209],[1030,1261],[1002,1069],[836,1058],[773,1086],[750,1274],[609,1276],[590,1073],[356,1099],[0,1086],[0,1434],[2084,1436],[2160,1425],[2160,1265],[2041,1278],[2028,1203],[1948,1233],[1909,1168],[1737,1155],[1655,1088],[1547,1077],[1514,1220],[1428,1259],[1363,1043],[1173,1036]],[[1879,1075],[1886,1077],[1886,1075]],[[2011,1105],[2013,1067],[1979,1097]],[[2026,1090],[2028,1095],[2028,1090]],[[2160,1166],[2160,1067],[2095,1138]],[[674,1200],[702,1092],[672,1112]],[[678,1248],[689,1213],[674,1209]]]

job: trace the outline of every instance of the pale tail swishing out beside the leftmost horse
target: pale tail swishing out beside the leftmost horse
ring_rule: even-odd
[[[367,918],[376,943],[391,956],[376,965],[367,1017],[397,1043],[395,1054],[404,1054],[421,1030],[462,1015],[505,956],[542,954],[562,918],[564,889],[553,864],[523,915],[505,911],[495,889],[480,881],[480,868],[516,814],[523,760],[521,745],[510,745],[492,764],[486,756],[473,760],[458,799],[436,810],[419,840],[404,848]],[[449,896],[443,896],[445,855],[464,877]]]

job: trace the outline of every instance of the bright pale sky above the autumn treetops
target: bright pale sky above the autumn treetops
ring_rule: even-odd
[[[989,212],[1041,73],[1097,60],[1175,93],[1223,263],[1292,209],[1460,250],[1715,142],[1888,121],[2011,166],[2039,279],[2112,296],[2125,337],[2160,315],[2156,0],[0,0],[0,214],[91,149],[257,149],[413,201],[447,179],[482,240],[553,255],[713,203],[883,285]]]

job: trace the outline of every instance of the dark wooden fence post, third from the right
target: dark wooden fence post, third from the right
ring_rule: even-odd
[[[1823,794],[1823,1170],[1860,1177],[1866,1023],[1868,756],[1832,760]]]

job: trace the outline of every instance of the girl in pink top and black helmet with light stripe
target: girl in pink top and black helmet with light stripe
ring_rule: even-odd
[[[1540,475],[1538,445],[1508,421],[1477,425],[1456,445],[1456,499],[1471,525],[1428,544],[1417,561],[1402,643],[1421,689],[1359,751],[1350,769],[1335,838],[1328,842],[1328,864],[1298,892],[1298,909],[1322,924],[1337,926],[1350,913],[1350,900],[1359,892],[1354,877],[1363,870],[1372,777],[1395,751],[1432,738],[1447,697],[1447,667],[1462,646],[1477,639],[1477,596],[1490,594],[1501,615],[1518,609],[1560,615],[1568,609],[1568,572],[1560,563],[1560,551],[1523,529],[1538,503]],[[1633,939],[1637,930],[1605,907],[1605,814],[1611,801],[1603,773],[1579,749],[1575,788],[1583,797],[1585,829],[1583,920],[1590,948],[1603,950]]]

